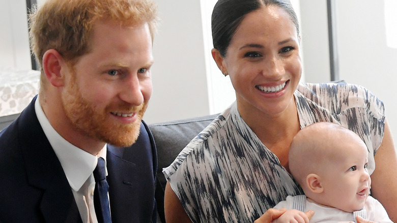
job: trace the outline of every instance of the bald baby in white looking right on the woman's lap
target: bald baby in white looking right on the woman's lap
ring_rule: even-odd
[[[274,208],[287,208],[273,222],[356,222],[356,216],[374,222],[392,222],[383,206],[369,196],[366,145],[340,125],[319,122],[301,129],[289,151],[289,169],[305,195],[288,196]]]

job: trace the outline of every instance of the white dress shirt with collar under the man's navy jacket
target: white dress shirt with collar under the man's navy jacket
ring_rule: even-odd
[[[98,157],[102,157],[106,164],[106,145],[97,156],[75,147],[51,126],[40,106],[39,97],[35,102],[35,111],[50,145],[61,162],[82,221],[84,223],[98,222],[94,209],[95,180],[93,171],[97,165]]]

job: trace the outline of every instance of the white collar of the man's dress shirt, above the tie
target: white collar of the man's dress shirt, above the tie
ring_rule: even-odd
[[[37,96],[35,102],[35,111],[37,119],[39,120],[52,149],[61,162],[70,186],[73,190],[78,191],[94,171],[98,162],[98,157],[102,157],[106,164],[106,145],[97,156],[94,156],[69,143],[51,126],[43,109],[41,108],[39,96]]]

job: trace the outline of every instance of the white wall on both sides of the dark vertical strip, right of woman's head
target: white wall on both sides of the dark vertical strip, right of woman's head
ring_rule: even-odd
[[[385,1],[336,0],[335,6],[339,78],[364,86],[384,102],[396,143],[397,49],[386,44]],[[329,81],[326,1],[301,0],[301,10],[306,81]]]

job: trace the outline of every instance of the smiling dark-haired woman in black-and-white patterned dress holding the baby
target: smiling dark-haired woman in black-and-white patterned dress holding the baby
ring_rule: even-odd
[[[302,194],[288,169],[292,138],[320,121],[360,135],[372,195],[395,221],[397,173],[389,169],[397,159],[383,103],[359,86],[299,83],[299,25],[290,2],[219,0],[212,35],[212,56],[230,76],[236,102],[164,169],[167,222],[270,222],[282,213],[270,208]]]

